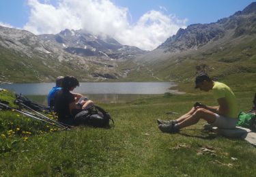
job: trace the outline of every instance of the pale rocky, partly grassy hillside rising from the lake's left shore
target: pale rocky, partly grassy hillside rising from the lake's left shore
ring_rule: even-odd
[[[81,57],[29,31],[0,27],[0,82],[49,82],[59,75],[81,81],[126,76],[109,57]]]

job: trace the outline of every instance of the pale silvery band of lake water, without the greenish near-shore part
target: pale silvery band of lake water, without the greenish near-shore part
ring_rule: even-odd
[[[55,83],[0,84],[5,88],[23,95],[48,95]],[[169,91],[172,82],[81,82],[76,93],[87,94],[162,94]]]

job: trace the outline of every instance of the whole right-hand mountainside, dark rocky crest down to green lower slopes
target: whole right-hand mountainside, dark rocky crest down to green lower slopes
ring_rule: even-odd
[[[141,73],[143,78],[191,83],[203,71],[227,82],[229,77],[251,77],[255,62],[256,3],[251,3],[217,22],[179,29],[158,48],[128,63],[134,72],[130,80]]]

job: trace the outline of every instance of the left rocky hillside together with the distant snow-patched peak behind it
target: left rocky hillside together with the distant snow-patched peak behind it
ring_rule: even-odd
[[[50,82],[60,75],[81,81],[123,78],[127,71],[119,70],[118,60],[148,52],[82,30],[34,35],[1,26],[0,47],[0,82]]]

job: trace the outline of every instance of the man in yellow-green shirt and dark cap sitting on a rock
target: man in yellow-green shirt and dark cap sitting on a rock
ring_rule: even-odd
[[[205,106],[197,103],[195,106],[176,120],[158,119],[158,128],[165,133],[177,133],[180,129],[194,125],[200,119],[206,120],[212,127],[233,129],[238,121],[238,103],[231,88],[221,82],[214,82],[208,74],[199,74],[195,79],[195,88],[201,91],[212,91],[218,106]]]

